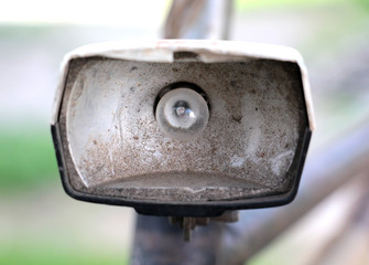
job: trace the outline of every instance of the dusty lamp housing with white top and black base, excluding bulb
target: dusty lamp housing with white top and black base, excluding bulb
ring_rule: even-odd
[[[178,87],[208,106],[193,139],[163,132],[155,116],[162,95]],[[177,216],[291,202],[313,128],[301,55],[227,41],[77,49],[65,57],[52,119],[70,197]]]

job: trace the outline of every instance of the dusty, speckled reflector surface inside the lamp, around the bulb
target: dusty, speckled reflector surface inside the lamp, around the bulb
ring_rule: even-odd
[[[208,126],[194,141],[165,137],[154,118],[156,95],[178,81],[197,84],[210,100]],[[293,63],[83,60],[70,65],[61,113],[76,165],[70,183],[161,201],[286,192],[299,132],[307,126],[304,100]]]

